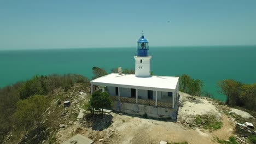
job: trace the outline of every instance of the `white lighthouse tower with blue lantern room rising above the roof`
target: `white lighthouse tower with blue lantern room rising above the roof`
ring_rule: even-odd
[[[137,55],[135,58],[135,76],[149,77],[150,76],[150,59],[152,56],[148,55],[148,41],[144,38],[142,32],[141,38],[137,41]]]

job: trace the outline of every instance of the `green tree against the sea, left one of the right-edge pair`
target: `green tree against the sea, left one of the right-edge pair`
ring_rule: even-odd
[[[243,104],[243,100],[240,97],[243,83],[231,79],[225,79],[218,81],[217,85],[220,88],[220,93],[225,94],[227,97],[226,104],[232,106],[241,106]]]

